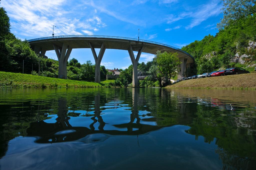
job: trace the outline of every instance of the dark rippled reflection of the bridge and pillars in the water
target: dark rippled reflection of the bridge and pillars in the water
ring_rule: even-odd
[[[84,143],[94,143],[106,140],[109,136],[115,135],[142,135],[151,131],[156,131],[162,126],[141,124],[138,114],[138,89],[132,89],[133,107],[130,115],[130,122],[113,125],[116,129],[104,130],[105,122],[101,116],[100,110],[100,93],[95,95],[94,116],[91,120],[90,128],[73,127],[70,123],[70,117],[67,116],[67,101],[64,99],[58,100],[58,117],[55,123],[46,123],[44,121],[33,122],[30,128],[27,129],[28,136],[37,136],[38,143],[55,143],[67,141],[80,141]],[[134,123],[134,121],[136,122]],[[155,119],[149,120],[155,121]],[[94,124],[99,123],[98,130],[95,130]],[[127,131],[118,129],[126,128]]]

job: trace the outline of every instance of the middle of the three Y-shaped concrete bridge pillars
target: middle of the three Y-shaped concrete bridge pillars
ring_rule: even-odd
[[[92,44],[89,42],[91,50],[92,50],[92,55],[95,60],[95,83],[100,83],[100,63],[103,58],[104,52],[106,50],[105,44],[102,43],[99,55],[97,56],[94,47]]]

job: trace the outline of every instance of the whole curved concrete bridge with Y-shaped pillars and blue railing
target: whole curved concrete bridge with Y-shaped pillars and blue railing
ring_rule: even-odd
[[[157,50],[177,52],[182,64],[178,72],[178,78],[183,77],[186,68],[194,63],[194,58],[187,52],[178,48],[158,42],[138,40],[134,38],[99,36],[99,35],[66,35],[56,37],[44,37],[27,40],[31,48],[40,56],[44,56],[48,50],[55,50],[59,60],[58,78],[67,79],[67,61],[73,48],[91,48],[95,60],[95,82],[100,82],[100,63],[106,49],[127,50],[133,65],[133,87],[137,87],[137,65],[141,53],[156,54]],[[95,48],[100,48],[97,56]],[[138,51],[134,56],[133,51]]]

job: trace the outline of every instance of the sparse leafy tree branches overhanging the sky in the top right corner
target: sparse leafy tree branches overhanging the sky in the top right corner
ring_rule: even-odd
[[[222,29],[230,24],[233,24],[240,18],[256,13],[255,0],[221,0],[223,7],[221,8],[223,18],[217,24],[219,29]]]

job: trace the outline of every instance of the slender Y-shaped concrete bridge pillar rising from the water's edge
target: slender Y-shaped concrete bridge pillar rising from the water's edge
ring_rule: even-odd
[[[132,66],[133,66],[133,72],[132,72],[132,87],[138,87],[138,61],[140,59],[141,56],[141,52],[142,52],[142,48],[138,51],[138,54],[136,56],[136,59],[134,57],[134,53],[132,50],[132,46],[130,45],[130,47],[128,48],[128,52],[130,55],[130,58],[132,60]]]

